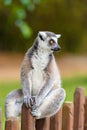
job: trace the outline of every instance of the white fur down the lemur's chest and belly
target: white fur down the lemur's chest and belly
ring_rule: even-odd
[[[31,70],[31,83],[32,83],[32,94],[37,95],[41,87],[45,84],[46,74],[44,69],[47,67],[49,62],[49,55],[42,51],[35,52],[32,57],[32,66],[34,69]]]

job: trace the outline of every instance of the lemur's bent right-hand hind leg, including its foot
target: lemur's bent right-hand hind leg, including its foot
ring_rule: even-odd
[[[63,88],[52,90],[43,100],[42,104],[37,110],[32,111],[33,116],[37,119],[53,116],[61,108],[66,93]]]

